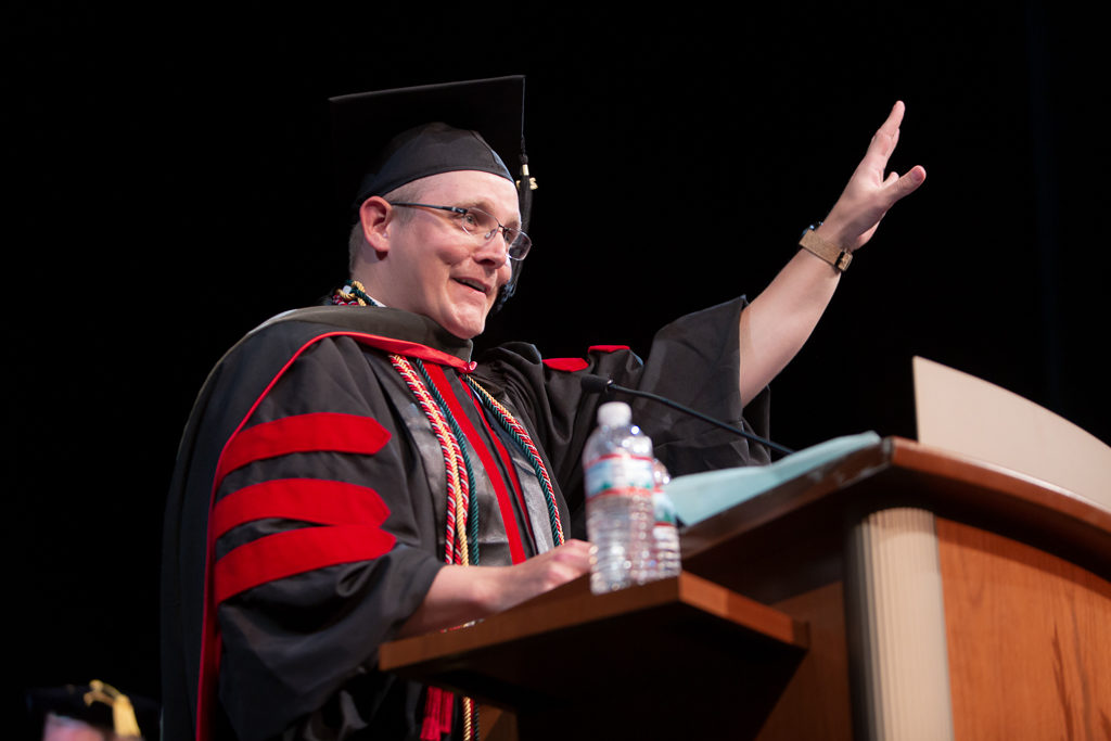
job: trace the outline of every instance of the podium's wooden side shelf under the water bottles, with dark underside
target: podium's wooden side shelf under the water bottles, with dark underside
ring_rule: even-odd
[[[580,579],[379,664],[512,710],[522,739],[751,737],[808,647],[803,622],[682,573],[601,595]]]

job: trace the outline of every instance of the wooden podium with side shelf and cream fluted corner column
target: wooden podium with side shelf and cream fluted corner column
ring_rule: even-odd
[[[1091,500],[889,438],[682,548],[677,579],[581,579],[380,665],[512,711],[484,710],[483,738],[1111,738],[1111,511]]]

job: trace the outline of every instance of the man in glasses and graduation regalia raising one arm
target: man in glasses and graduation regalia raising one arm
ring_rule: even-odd
[[[644,362],[615,347],[546,361],[522,343],[476,360],[471,339],[531,247],[528,172],[504,163],[521,151],[522,97],[522,78],[499,78],[333,101],[359,170],[351,278],[333,306],[276,317],[232,348],[179,450],[162,585],[168,741],[473,734],[469,703],[379,672],[378,647],[588,570],[580,458],[599,399],[581,375],[765,433],[767,384],[853,251],[925,178],[884,174],[897,103],[751,304],[679,319]],[[665,408],[634,414],[675,473],[769,460]]]

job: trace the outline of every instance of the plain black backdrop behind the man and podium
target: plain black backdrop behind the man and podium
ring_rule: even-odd
[[[755,296],[902,99],[891,166],[929,177],[775,381],[773,437],[913,438],[920,354],[1111,440],[1094,19],[833,4],[6,3],[16,689],[158,698],[161,511],[193,395],[244,331],[344,277],[334,94],[528,74],[536,248],[482,342],[548,356],[647,350]]]

